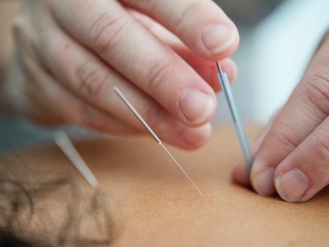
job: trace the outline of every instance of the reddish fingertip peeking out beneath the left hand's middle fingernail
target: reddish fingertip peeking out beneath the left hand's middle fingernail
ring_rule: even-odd
[[[206,124],[198,128],[185,127],[180,132],[180,137],[188,144],[193,147],[199,147],[203,145],[210,137],[212,132],[211,124]]]

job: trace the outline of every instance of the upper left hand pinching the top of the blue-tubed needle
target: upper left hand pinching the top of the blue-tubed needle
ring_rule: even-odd
[[[118,86],[160,138],[196,148],[216,109],[214,61],[235,76],[227,57],[239,34],[210,0],[28,0],[13,28],[8,91],[16,109],[47,124],[143,132]]]

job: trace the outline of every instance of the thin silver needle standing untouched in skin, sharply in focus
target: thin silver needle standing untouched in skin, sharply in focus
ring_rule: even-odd
[[[201,191],[199,190],[199,188],[197,187],[197,185],[195,185],[195,183],[193,182],[193,180],[190,178],[190,176],[188,176],[188,174],[186,174],[186,172],[184,171],[184,169],[182,168],[182,166],[178,163],[178,161],[176,161],[175,158],[173,158],[173,155],[169,152],[169,150],[167,150],[167,148],[163,145],[162,141],[160,140],[160,138],[156,135],[156,133],[154,133],[154,131],[151,129],[151,127],[149,127],[149,125],[147,124],[147,122],[143,119],[143,117],[138,113],[138,111],[134,108],[134,106],[132,106],[132,104],[129,102],[129,100],[125,97],[125,95],[123,95],[123,93],[120,91],[120,89],[117,88],[117,86],[114,86],[113,88],[114,92],[117,93],[117,95],[120,97],[120,99],[125,103],[125,105],[130,108],[130,110],[132,111],[132,113],[134,113],[134,115],[137,117],[137,119],[139,121],[141,121],[141,123],[143,124],[143,126],[147,129],[147,131],[151,134],[151,136],[158,142],[158,144],[164,149],[164,151],[167,152],[167,154],[171,157],[171,159],[175,162],[175,164],[180,168],[180,170],[183,172],[183,174],[186,176],[186,178],[188,178],[188,180],[191,182],[191,184],[193,185],[193,187],[195,187],[195,189],[197,190],[197,192],[199,192],[200,196],[204,197],[204,195],[201,193]]]

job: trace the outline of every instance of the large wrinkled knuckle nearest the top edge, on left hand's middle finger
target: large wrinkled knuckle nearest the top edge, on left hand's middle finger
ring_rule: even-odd
[[[127,25],[127,18],[123,16],[101,14],[90,26],[88,32],[90,42],[95,46],[97,52],[103,53],[118,42],[125,25]]]

